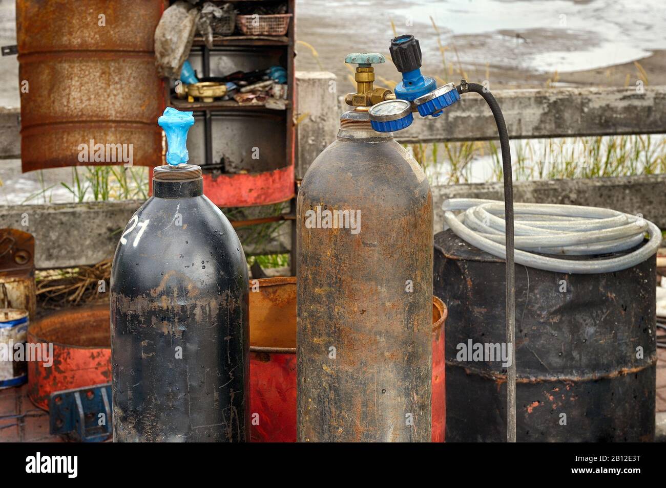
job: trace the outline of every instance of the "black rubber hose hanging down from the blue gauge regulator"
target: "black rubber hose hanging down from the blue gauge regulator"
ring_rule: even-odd
[[[515,266],[513,264],[513,172],[511,171],[511,147],[509,133],[506,130],[504,116],[500,104],[493,94],[478,83],[462,80],[456,86],[458,93],[476,92],[484,97],[495,117],[500,136],[501,162],[504,180],[504,213],[505,213],[505,246],[506,246],[506,342],[511,344],[511,363],[507,369],[506,388],[506,438],[507,442],[515,442]]]

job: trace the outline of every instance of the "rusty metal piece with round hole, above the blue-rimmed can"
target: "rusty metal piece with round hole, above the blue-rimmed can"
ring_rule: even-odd
[[[35,237],[0,229],[0,308],[21,308],[35,318]]]

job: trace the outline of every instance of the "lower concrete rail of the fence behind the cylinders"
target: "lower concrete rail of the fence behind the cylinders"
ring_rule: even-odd
[[[444,228],[442,202],[447,198],[503,199],[502,183],[438,186],[432,189],[435,231]],[[666,229],[666,175],[516,182],[515,201],[569,203],[642,213]],[[113,256],[121,230],[141,201],[108,201],[65,205],[0,206],[0,227],[35,235],[35,263],[40,269],[90,265]],[[28,225],[23,225],[27,217]],[[242,239],[242,229],[240,235]],[[286,253],[288,232],[247,255]]]

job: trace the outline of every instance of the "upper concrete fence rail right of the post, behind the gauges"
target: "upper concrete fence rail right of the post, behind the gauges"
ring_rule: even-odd
[[[666,133],[666,86],[499,90],[510,138]],[[414,116],[398,142],[489,140],[497,126],[486,101],[464,94],[438,118]]]

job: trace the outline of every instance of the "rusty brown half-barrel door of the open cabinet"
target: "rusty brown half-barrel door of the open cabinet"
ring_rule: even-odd
[[[163,9],[158,0],[17,1],[23,172],[161,164],[165,87],[153,35]]]

